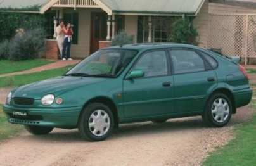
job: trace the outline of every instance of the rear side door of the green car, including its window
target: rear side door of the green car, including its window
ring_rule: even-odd
[[[176,112],[202,112],[207,92],[217,85],[212,66],[193,49],[171,49],[169,55],[174,74]]]

